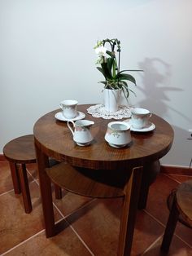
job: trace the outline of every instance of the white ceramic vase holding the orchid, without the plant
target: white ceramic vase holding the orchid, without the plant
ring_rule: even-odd
[[[103,105],[108,112],[116,112],[120,106],[121,90],[104,89]]]

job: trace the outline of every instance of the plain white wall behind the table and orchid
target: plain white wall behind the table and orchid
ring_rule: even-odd
[[[101,102],[93,47],[118,38],[121,67],[145,70],[135,75],[130,104],[150,108],[175,130],[162,162],[189,166],[191,10],[191,0],[1,0],[0,153],[10,139],[33,133],[60,100]]]

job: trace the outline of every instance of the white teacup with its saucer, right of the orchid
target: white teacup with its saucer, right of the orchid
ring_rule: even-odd
[[[131,118],[124,120],[129,123],[130,130],[136,132],[149,132],[155,130],[155,124],[150,121],[152,113],[146,108],[132,108]]]

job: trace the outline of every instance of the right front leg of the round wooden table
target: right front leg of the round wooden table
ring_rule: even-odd
[[[120,219],[118,256],[129,256],[131,254],[141,180],[142,167],[136,167],[132,170],[129,182],[124,188],[125,196]]]

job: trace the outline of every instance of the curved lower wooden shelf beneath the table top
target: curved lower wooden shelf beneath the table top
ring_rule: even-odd
[[[69,192],[97,198],[124,196],[124,184],[129,179],[122,179],[118,171],[88,170],[70,166],[65,162],[46,168],[46,174],[59,187]]]

